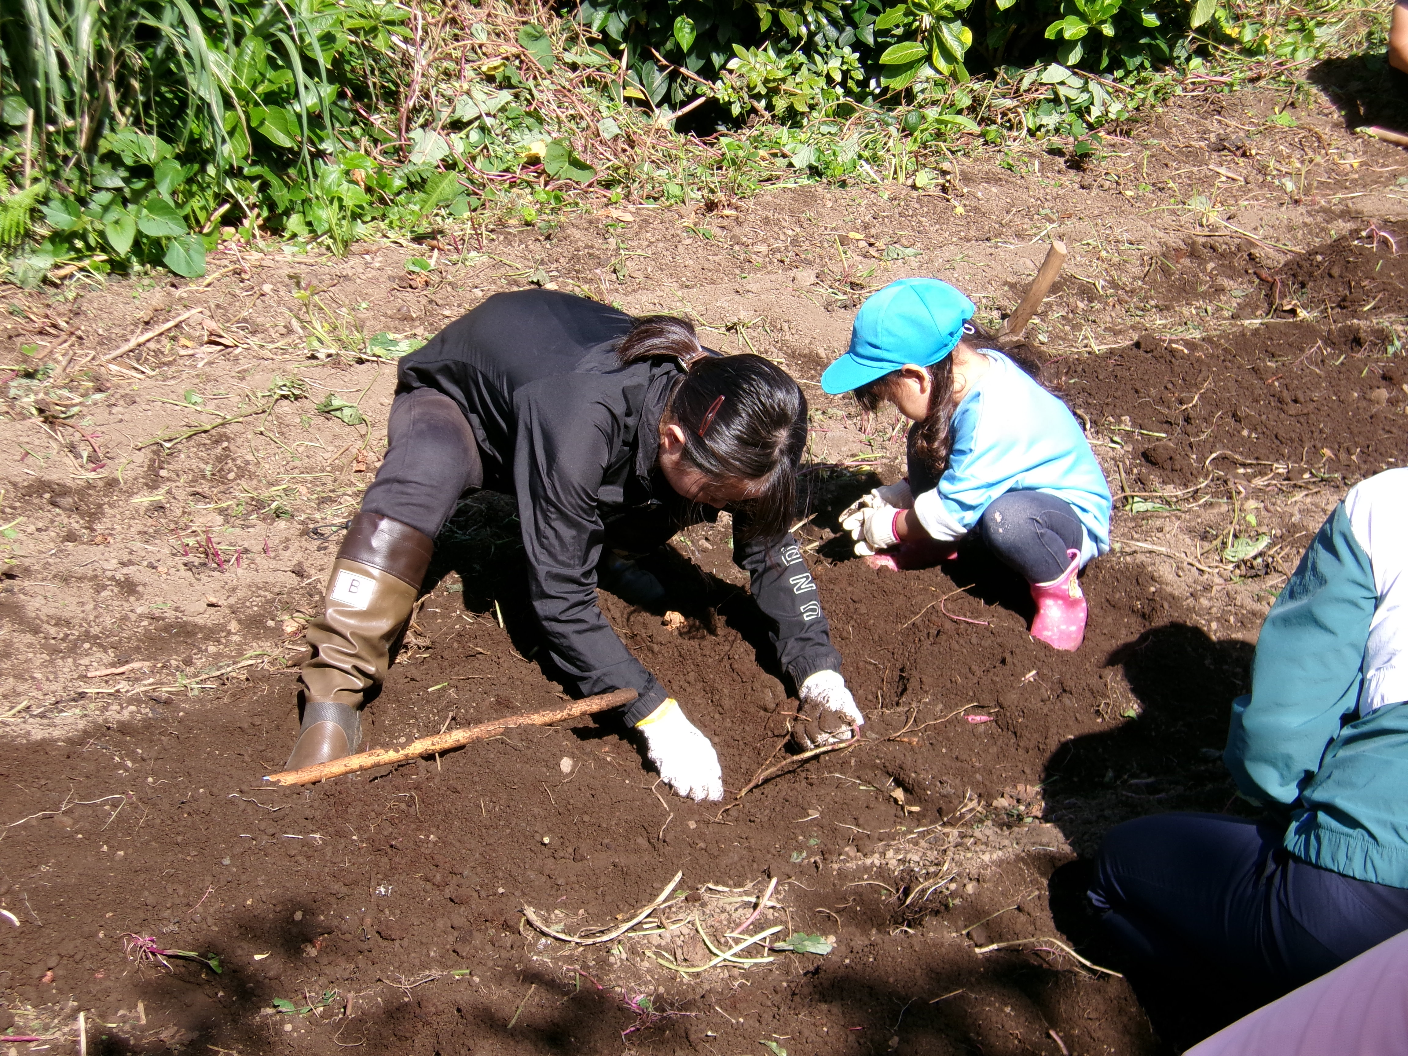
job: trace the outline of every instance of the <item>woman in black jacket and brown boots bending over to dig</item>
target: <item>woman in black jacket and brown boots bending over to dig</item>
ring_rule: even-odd
[[[356,750],[363,696],[386,674],[432,541],[476,487],[518,498],[528,594],[552,660],[582,694],[639,691],[622,718],[681,796],[722,796],[718,758],[597,607],[598,567],[621,573],[612,549],[642,552],[731,510],[734,560],[798,687],[798,742],[845,739],[865,722],[787,531],[807,401],[766,359],[703,349],[683,320],[503,293],[401,360],[387,434],[324,614],[308,625],[290,769]]]

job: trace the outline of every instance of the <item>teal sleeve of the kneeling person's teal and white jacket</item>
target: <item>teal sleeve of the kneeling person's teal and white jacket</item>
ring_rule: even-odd
[[[1262,625],[1252,693],[1232,703],[1222,753],[1238,788],[1294,804],[1359,704],[1377,591],[1343,503],[1316,534]]]

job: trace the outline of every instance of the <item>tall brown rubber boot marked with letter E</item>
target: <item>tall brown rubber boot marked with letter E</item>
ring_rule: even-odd
[[[286,770],[356,752],[363,696],[386,677],[391,643],[411,615],[432,552],[428,535],[390,517],[352,518],[322,615],[308,624],[303,728]]]

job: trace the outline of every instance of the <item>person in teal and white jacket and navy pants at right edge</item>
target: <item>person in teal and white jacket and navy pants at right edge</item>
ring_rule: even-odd
[[[1408,469],[1350,489],[1262,627],[1224,760],[1284,826],[1163,814],[1112,829],[1090,898],[1149,970],[1271,993],[1408,929]],[[1201,967],[1198,967],[1201,966]]]

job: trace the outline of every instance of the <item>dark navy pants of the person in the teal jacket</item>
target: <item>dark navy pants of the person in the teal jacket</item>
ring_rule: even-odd
[[[1156,814],[1110,831],[1090,900],[1132,966],[1221,972],[1284,993],[1408,929],[1408,890],[1319,869],[1281,832],[1222,814]]]

